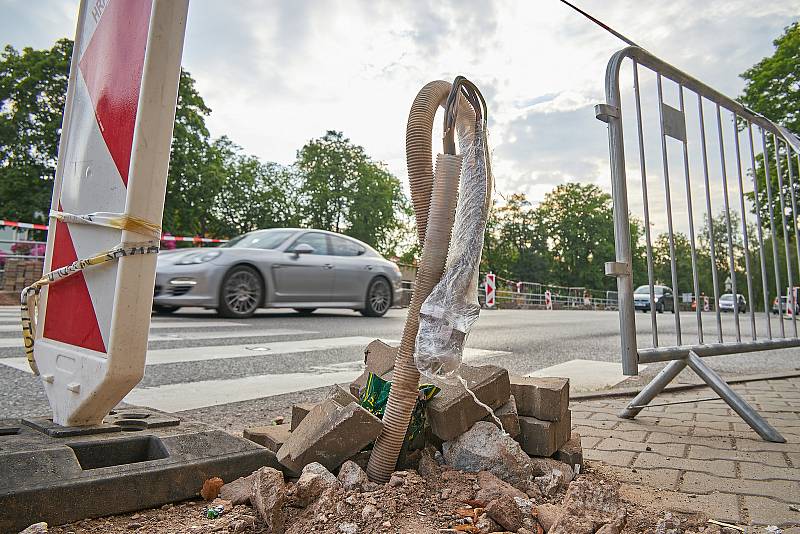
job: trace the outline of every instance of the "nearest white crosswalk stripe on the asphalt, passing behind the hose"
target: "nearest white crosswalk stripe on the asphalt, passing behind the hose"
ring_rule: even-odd
[[[466,349],[464,360],[508,354],[504,351]],[[0,360],[3,362],[3,360]],[[27,365],[27,362],[25,362]],[[364,364],[361,360],[314,367],[308,373],[286,373],[248,376],[222,380],[203,380],[139,387],[128,393],[125,402],[167,412],[195,410],[232,402],[260,399],[294,393],[305,389],[348,383],[358,377]]]

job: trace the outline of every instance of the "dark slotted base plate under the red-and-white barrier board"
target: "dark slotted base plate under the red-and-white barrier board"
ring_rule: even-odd
[[[122,431],[74,435],[43,419],[0,420],[0,532],[161,506],[195,497],[210,477],[281,468],[266,448],[196,421],[137,408],[102,426],[118,421]]]

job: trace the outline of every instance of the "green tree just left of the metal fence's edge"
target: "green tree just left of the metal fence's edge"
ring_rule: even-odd
[[[548,236],[556,281],[610,288],[604,264],[614,258],[611,195],[592,184],[563,184],[545,195],[537,212]]]

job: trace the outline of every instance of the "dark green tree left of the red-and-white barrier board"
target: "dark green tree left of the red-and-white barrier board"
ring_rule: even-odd
[[[47,220],[71,57],[69,39],[0,54],[0,218]]]

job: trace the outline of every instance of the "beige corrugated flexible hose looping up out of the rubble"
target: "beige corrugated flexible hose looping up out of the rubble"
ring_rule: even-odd
[[[450,89],[451,85],[444,81],[427,84],[414,99],[408,118],[406,159],[417,231],[423,249],[403,337],[395,358],[392,389],[383,416],[383,432],[375,442],[367,465],[367,475],[375,482],[385,483],[389,480],[405,440],[419,394],[419,371],[414,363],[419,311],[441,279],[447,261],[462,157],[439,154],[434,174],[431,168],[431,137],[436,110],[444,104]],[[475,112],[466,99],[459,97],[459,135],[468,135],[470,129],[474,134],[474,124]]]

